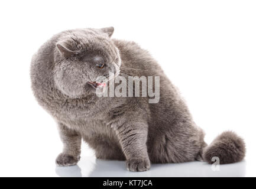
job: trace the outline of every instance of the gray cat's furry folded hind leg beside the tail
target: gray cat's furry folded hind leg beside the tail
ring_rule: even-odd
[[[149,144],[150,161],[154,163],[179,163],[202,161],[202,151],[206,146],[203,132],[194,126],[176,132],[159,133]]]

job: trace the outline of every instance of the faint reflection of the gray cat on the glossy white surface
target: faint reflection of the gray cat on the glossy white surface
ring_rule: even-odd
[[[152,164],[149,171],[129,172],[124,161],[106,161],[95,158],[81,158],[78,165],[56,167],[60,177],[244,177],[246,162],[220,165],[213,171],[206,162],[181,164]]]

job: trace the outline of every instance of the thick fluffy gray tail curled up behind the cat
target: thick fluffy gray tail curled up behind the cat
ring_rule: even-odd
[[[241,161],[245,157],[244,140],[234,132],[223,132],[209,146],[203,149],[203,161],[212,164],[213,157],[218,157],[220,164]]]

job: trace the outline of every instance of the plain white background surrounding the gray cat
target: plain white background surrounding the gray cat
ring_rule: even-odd
[[[1,1],[0,176],[256,176],[255,1]],[[131,173],[83,145],[78,166],[56,168],[56,123],[34,99],[30,61],[51,35],[115,27],[136,41],[179,87],[206,142],[225,130],[247,144],[245,161],[212,171],[204,162]]]

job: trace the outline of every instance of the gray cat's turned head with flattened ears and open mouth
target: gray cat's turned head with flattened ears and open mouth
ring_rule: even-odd
[[[121,58],[111,40],[113,27],[79,29],[63,32],[54,54],[54,83],[69,97],[76,98],[95,92],[109,79],[109,71],[119,74]]]

